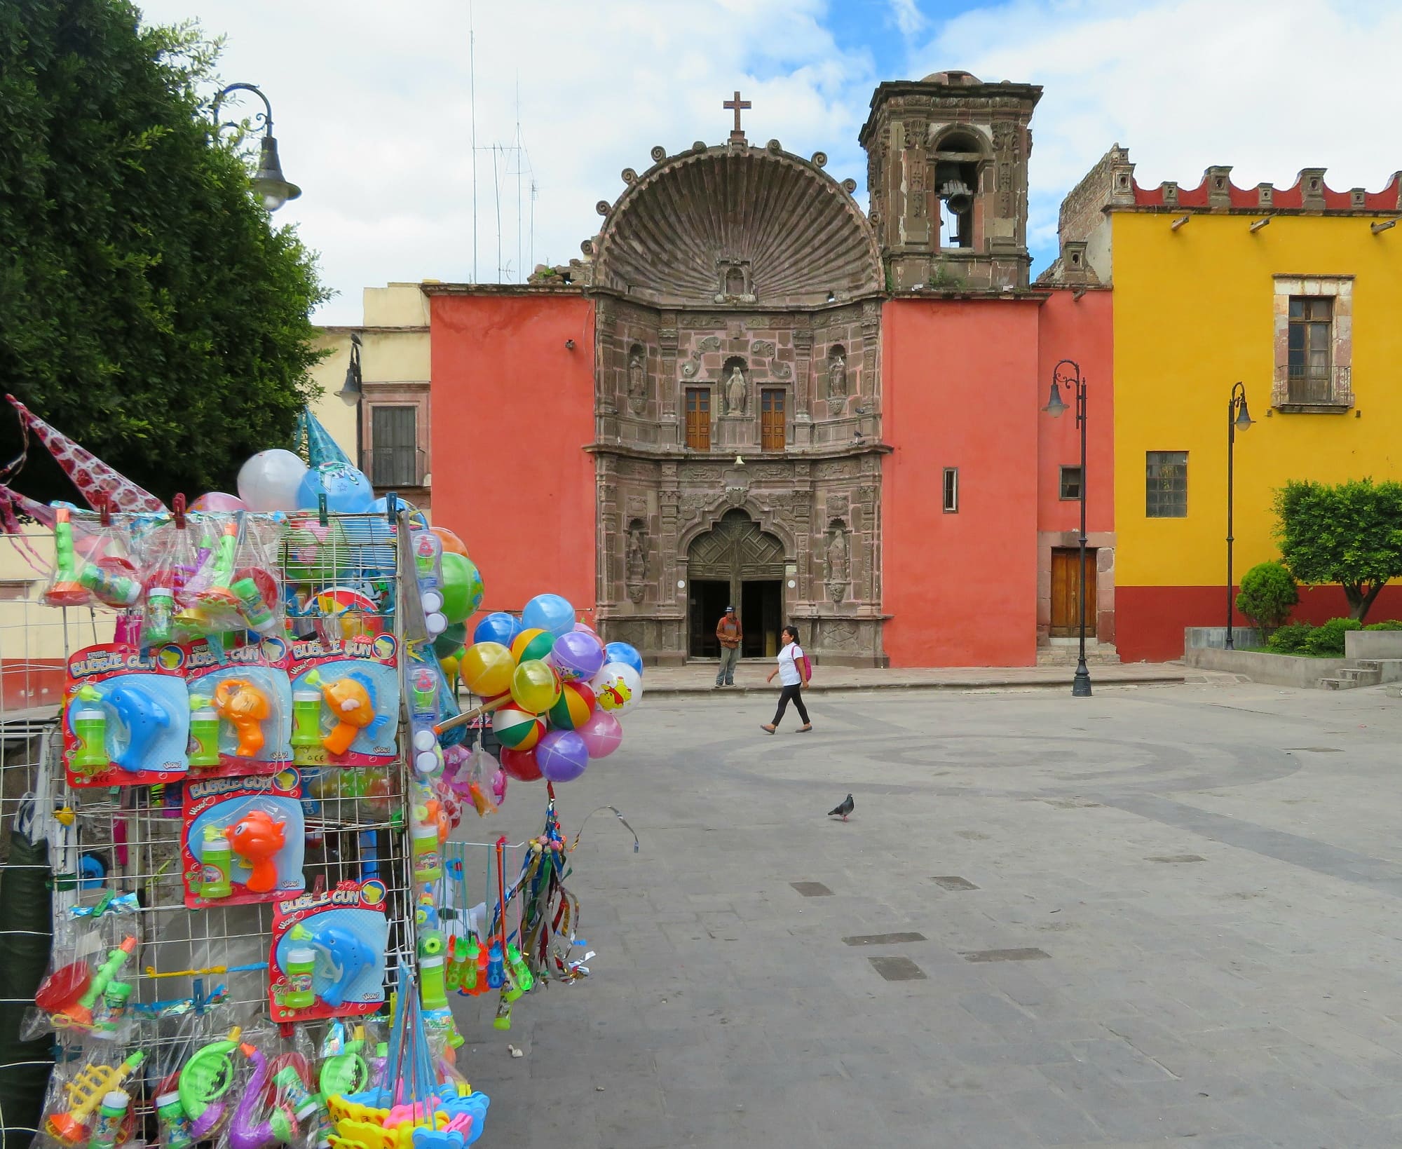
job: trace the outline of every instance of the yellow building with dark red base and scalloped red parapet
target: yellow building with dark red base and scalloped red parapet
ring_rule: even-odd
[[[1273,502],[1287,481],[1402,476],[1402,172],[1381,192],[1335,192],[1322,170],[1286,189],[1237,188],[1230,171],[1140,188],[1116,146],[1061,207],[1047,277],[1113,286],[1126,660],[1179,657],[1185,626],[1225,625],[1238,381],[1255,423],[1234,451],[1237,579],[1279,558]],[[1402,591],[1374,612],[1402,615]],[[1301,589],[1297,618],[1346,614],[1338,587]]]

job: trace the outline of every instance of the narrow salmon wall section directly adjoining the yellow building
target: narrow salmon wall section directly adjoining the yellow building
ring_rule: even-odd
[[[1087,531],[1115,530],[1115,338],[1109,291],[1087,291],[1077,300],[1068,289],[1050,294],[1037,311],[1037,408],[1046,406],[1052,369],[1074,359],[1085,380]],[[1061,388],[1071,409],[1057,419],[1037,412],[1037,530],[1077,531],[1081,504],[1061,502],[1061,468],[1081,462],[1075,397]]]

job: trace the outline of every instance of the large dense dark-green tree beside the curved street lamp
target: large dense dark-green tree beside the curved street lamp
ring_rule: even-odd
[[[217,42],[139,20],[128,0],[0,3],[0,391],[193,497],[290,439],[325,291],[215,136]],[[18,486],[72,499],[43,454]]]

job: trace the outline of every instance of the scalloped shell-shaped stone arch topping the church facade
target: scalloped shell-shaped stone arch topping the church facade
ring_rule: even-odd
[[[674,156],[624,189],[594,241],[594,287],[712,307],[721,261],[749,266],[758,307],[820,307],[882,290],[876,234],[843,186],[787,151]]]

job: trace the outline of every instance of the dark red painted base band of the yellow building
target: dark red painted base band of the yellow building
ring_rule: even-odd
[[[1235,591],[1239,587],[1234,587]],[[1185,626],[1225,626],[1225,587],[1116,587],[1115,607],[1119,624],[1116,649],[1126,663],[1162,663],[1183,657]],[[1241,611],[1234,611],[1232,625],[1251,626]],[[1349,600],[1336,586],[1300,587],[1300,605],[1290,612],[1291,622],[1328,622],[1347,618]],[[1382,587],[1364,622],[1402,618],[1402,586]]]

